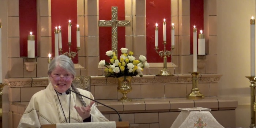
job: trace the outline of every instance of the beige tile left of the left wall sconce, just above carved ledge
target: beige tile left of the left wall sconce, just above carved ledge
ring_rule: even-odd
[[[8,58],[8,71],[10,78],[23,78],[24,69],[23,69],[23,58]]]

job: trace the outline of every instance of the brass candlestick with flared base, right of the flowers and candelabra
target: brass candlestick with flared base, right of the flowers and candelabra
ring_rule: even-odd
[[[199,92],[198,89],[198,75],[199,72],[192,72],[192,90],[191,93],[187,95],[187,99],[204,99],[204,95]]]

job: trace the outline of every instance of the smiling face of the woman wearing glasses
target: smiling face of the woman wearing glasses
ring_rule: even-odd
[[[74,76],[65,69],[57,66],[50,74],[50,81],[53,88],[59,93],[64,93],[69,89]]]

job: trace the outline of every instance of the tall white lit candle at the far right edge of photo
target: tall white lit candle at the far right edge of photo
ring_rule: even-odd
[[[255,19],[250,20],[251,24],[251,76],[255,76]]]

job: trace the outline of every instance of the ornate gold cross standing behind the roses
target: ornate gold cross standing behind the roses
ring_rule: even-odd
[[[131,26],[129,20],[117,20],[117,7],[112,7],[111,20],[99,20],[99,27],[112,27],[112,50],[117,55],[117,27]]]

